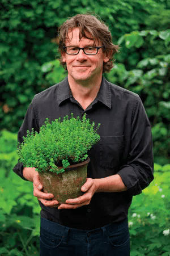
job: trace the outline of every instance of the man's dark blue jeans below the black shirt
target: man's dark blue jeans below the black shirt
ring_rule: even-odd
[[[128,220],[79,230],[41,218],[40,256],[129,256]]]

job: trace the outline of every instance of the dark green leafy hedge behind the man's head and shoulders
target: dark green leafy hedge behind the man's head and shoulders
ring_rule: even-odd
[[[2,0],[0,130],[18,132],[33,96],[66,76],[58,61],[59,25],[69,16],[94,11],[121,45],[115,68],[105,76],[141,96],[152,125],[155,161],[170,163],[166,0]]]

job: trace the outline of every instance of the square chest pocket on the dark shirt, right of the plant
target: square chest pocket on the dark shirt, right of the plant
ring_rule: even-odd
[[[125,136],[100,137],[100,166],[113,168],[121,165]]]

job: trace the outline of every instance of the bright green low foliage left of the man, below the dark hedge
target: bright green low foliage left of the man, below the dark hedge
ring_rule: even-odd
[[[11,171],[18,162],[17,135],[4,130],[0,142],[0,255],[38,256],[39,203],[32,196],[32,183]]]

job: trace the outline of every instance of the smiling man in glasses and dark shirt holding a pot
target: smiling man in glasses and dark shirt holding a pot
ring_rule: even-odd
[[[118,51],[111,32],[95,16],[79,14],[60,28],[59,51],[68,77],[35,95],[18,140],[46,117],[84,113],[101,123],[100,141],[89,152],[84,194],[59,205],[42,191],[35,168],[15,173],[33,182],[41,206],[40,255],[129,256],[128,209],[153,177],[151,128],[138,95],[109,83],[104,72]]]

